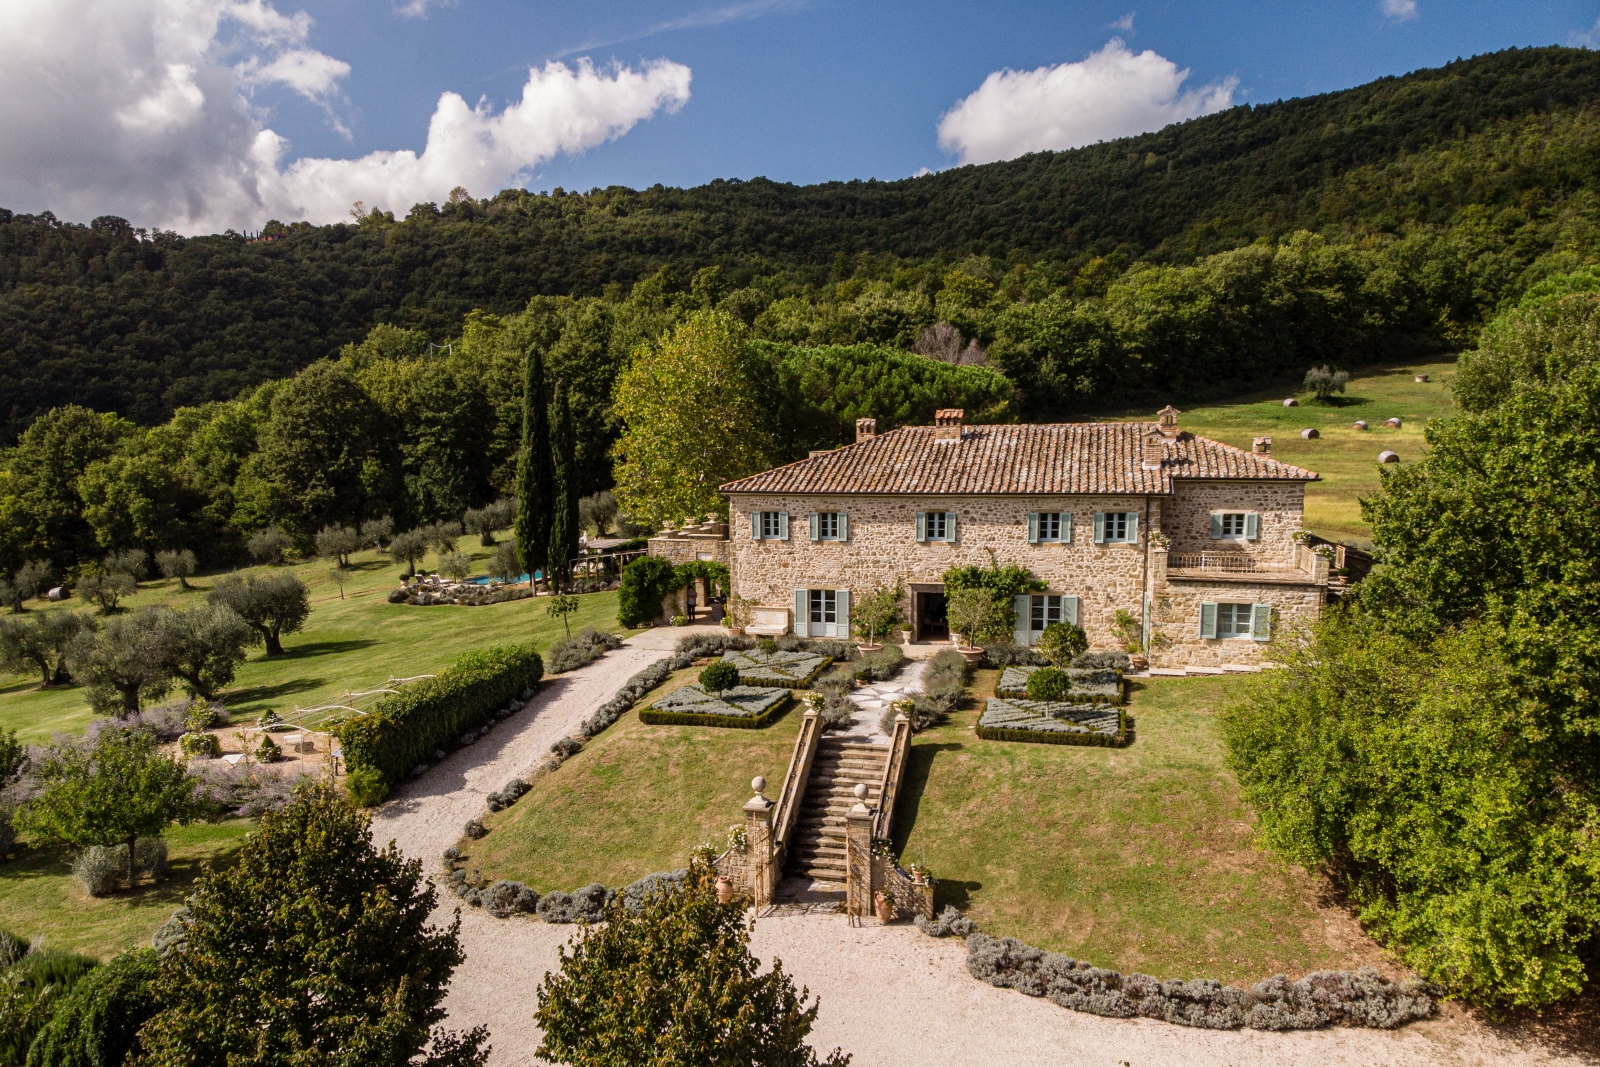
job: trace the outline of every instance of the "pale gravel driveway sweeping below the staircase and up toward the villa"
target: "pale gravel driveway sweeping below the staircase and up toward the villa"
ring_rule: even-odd
[[[386,803],[373,819],[374,840],[394,838],[427,870],[438,870],[438,854],[456,843],[467,819],[483,811],[485,793],[536,763],[550,742],[573,733],[630,675],[667,654],[629,646],[547,680],[525,710]],[[899,685],[909,681],[912,677],[904,673],[896,680]],[[435,921],[450,921],[456,907],[456,899],[446,896]],[[574,929],[522,917],[496,920],[478,909],[461,907],[467,958],[451,981],[450,1025],[488,1025],[494,1067],[541,1062],[533,1054],[539,1045],[533,1024],[534,990],[546,971],[557,966],[557,952]],[[941,1067],[1592,1062],[1504,1038],[1450,1008],[1442,1019],[1394,1033],[1208,1032],[1152,1021],[1101,1019],[973,979],[958,941],[936,941],[909,926],[851,928],[840,915],[760,920],[752,947],[762,958],[782,960],[795,982],[821,998],[811,1043],[822,1051],[842,1046],[853,1054],[854,1067],[906,1062],[938,1062]]]

